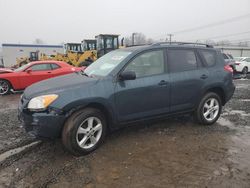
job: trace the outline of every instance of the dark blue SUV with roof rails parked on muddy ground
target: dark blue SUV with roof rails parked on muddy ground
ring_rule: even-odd
[[[19,118],[33,135],[62,137],[71,153],[84,155],[108,130],[132,122],[189,113],[213,124],[234,90],[219,50],[158,43],[112,51],[84,71],[28,87]]]

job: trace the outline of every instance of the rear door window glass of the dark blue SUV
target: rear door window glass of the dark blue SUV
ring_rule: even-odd
[[[171,72],[195,70],[198,67],[193,50],[168,50],[168,62]]]

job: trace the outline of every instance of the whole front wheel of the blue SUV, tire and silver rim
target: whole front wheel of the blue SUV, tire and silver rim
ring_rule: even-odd
[[[75,112],[66,121],[62,131],[62,142],[73,155],[86,155],[103,143],[106,130],[106,119],[101,111],[86,108]]]

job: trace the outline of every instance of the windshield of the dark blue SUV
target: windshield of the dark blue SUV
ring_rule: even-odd
[[[84,70],[84,73],[88,76],[107,76],[119,63],[128,57],[129,54],[131,54],[131,52],[112,51],[88,66]]]

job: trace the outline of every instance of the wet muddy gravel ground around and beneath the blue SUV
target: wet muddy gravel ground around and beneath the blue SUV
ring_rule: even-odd
[[[127,127],[80,158],[56,141],[3,160],[34,139],[17,120],[20,95],[0,97],[0,187],[250,187],[250,80],[235,84],[212,126],[187,116]]]

